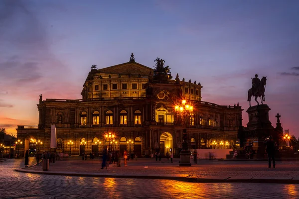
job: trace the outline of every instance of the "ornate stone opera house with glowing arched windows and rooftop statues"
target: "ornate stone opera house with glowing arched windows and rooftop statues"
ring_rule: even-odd
[[[50,150],[51,125],[56,126],[56,151],[72,155],[97,155],[108,147],[139,157],[154,151],[178,155],[184,128],[190,149],[231,147],[237,140],[241,106],[202,101],[200,83],[185,82],[178,75],[172,80],[164,60],[155,61],[152,69],[135,62],[132,54],[127,63],[102,69],[92,66],[80,100],[40,96],[38,125],[17,127],[23,150],[36,148],[37,140],[43,142],[41,151]],[[174,108],[180,100],[194,107],[186,120]]]

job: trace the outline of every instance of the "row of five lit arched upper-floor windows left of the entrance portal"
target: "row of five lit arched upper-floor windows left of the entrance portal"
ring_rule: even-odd
[[[126,110],[122,110],[120,112],[120,124],[127,124],[128,112]],[[87,122],[87,113],[83,111],[80,114],[80,125],[86,125]],[[141,124],[141,111],[136,110],[134,112],[134,123]],[[100,113],[99,111],[94,111],[92,114],[92,124],[97,125],[100,124]],[[105,124],[113,124],[113,111],[108,110],[105,114]]]

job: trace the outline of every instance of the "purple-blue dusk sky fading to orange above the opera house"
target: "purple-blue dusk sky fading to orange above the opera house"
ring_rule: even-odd
[[[203,101],[245,110],[251,78],[267,76],[272,125],[279,112],[298,137],[298,10],[299,0],[1,0],[0,127],[37,125],[40,94],[81,99],[92,65],[133,52],[200,82]]]

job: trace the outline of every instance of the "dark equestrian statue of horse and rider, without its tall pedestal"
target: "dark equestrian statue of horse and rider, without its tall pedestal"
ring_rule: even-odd
[[[257,98],[262,97],[261,103],[263,104],[263,101],[265,101],[265,86],[267,82],[267,76],[263,76],[263,78],[260,80],[258,78],[258,75],[255,75],[255,78],[252,78],[252,88],[248,90],[248,99],[249,106],[251,106],[251,97],[255,97],[255,101],[258,103]]]

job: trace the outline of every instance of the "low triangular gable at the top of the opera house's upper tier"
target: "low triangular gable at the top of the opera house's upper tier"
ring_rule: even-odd
[[[153,69],[137,62],[127,62],[124,64],[98,69],[97,72],[106,74],[131,74],[148,76],[149,72],[153,72]]]

